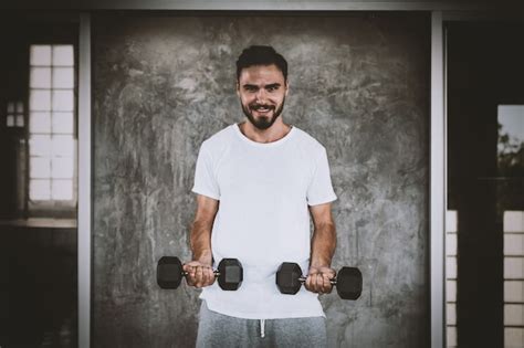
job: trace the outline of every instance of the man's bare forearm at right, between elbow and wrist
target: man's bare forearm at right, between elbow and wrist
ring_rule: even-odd
[[[311,242],[311,266],[331,267],[336,247],[336,229],[332,222],[315,225]]]

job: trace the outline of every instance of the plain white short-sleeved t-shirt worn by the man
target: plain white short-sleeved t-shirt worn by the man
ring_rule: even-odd
[[[310,211],[336,200],[325,148],[292,127],[282,139],[261,144],[237,124],[202,143],[192,191],[219,200],[211,249],[214,264],[226,257],[243,266],[238,291],[218,282],[203,288],[208,308],[248,319],[325,316],[318,296],[305,289],[281,294],[275,273],[282,262],[310,265]]]

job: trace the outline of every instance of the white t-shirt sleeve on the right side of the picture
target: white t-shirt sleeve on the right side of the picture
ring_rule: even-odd
[[[323,147],[316,158],[316,167],[307,188],[307,204],[318,205],[333,202],[337,197],[333,190],[326,149]]]

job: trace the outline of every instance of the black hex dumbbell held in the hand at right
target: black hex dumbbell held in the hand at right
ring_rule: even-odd
[[[284,262],[276,271],[276,286],[282,294],[296,294],[305,281],[296,263]],[[343,299],[357,299],[363,292],[363,274],[355,267],[342,267],[331,283],[336,285],[336,292]]]

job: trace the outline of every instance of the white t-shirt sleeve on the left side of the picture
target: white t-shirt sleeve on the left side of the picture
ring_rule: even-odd
[[[220,189],[214,173],[214,165],[206,143],[200,146],[192,192],[220,200]]]

